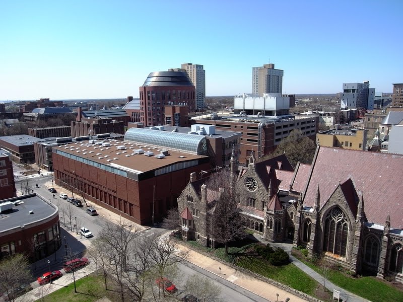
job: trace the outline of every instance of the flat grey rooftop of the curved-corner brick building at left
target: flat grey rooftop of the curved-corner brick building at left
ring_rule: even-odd
[[[50,204],[46,199],[36,193],[4,199],[0,202],[13,202],[17,200],[21,200],[22,203],[14,205],[13,210],[5,211],[2,213],[2,216],[0,216],[0,236],[3,232],[14,228],[21,228],[35,221],[40,221],[58,211],[54,204]],[[31,210],[34,211],[33,214],[29,213]]]

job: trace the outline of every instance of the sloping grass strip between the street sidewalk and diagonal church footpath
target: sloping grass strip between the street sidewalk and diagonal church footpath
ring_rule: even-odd
[[[230,247],[229,254],[225,254],[225,248],[211,249],[195,241],[180,240],[180,244],[306,300],[331,301],[331,293],[324,291],[321,284],[294,264],[276,266],[260,256],[255,246],[261,244],[248,243],[241,247]]]

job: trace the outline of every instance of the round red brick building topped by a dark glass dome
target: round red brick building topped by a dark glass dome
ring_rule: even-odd
[[[164,125],[165,106],[187,106],[195,112],[195,88],[185,72],[151,72],[140,87],[141,120],[145,126]]]

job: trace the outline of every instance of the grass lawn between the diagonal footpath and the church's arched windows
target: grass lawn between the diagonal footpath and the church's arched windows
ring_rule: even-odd
[[[320,274],[319,268],[306,261],[304,256],[294,251],[293,255]],[[328,273],[328,279],[332,283],[371,301],[403,301],[403,291],[389,285],[387,281],[373,276],[354,278],[343,272],[331,270]]]

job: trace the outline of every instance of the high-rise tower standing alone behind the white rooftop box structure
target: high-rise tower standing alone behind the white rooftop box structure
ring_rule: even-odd
[[[275,69],[274,64],[252,67],[252,94],[283,93],[284,70]]]

